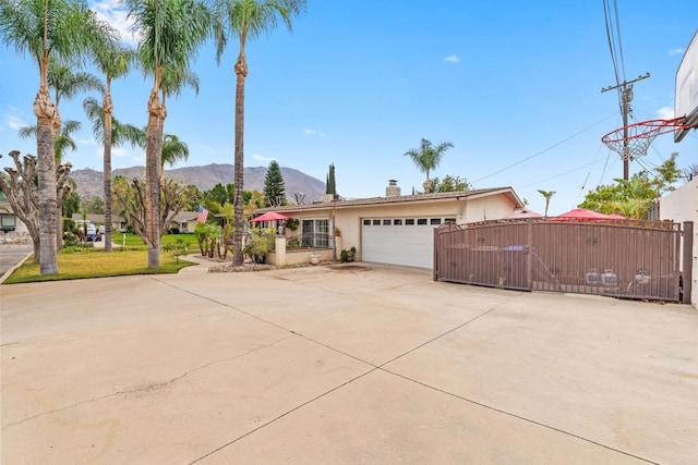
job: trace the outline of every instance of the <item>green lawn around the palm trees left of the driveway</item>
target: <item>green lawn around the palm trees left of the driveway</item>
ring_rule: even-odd
[[[140,244],[136,244],[135,241],[133,241],[133,237],[130,236],[135,237]],[[188,253],[195,254],[198,250],[198,245],[193,234],[166,235],[163,237],[163,245],[173,244],[177,242],[177,237],[182,236],[191,236],[193,238],[194,244],[189,245]],[[132,245],[130,245],[130,243]],[[61,250],[58,254],[59,274],[55,276],[40,277],[38,264],[33,264],[32,258],[29,258],[24,262],[24,265],[17,268],[12,276],[3,282],[3,284],[119,277],[128,274],[177,273],[182,268],[192,265],[194,264],[182,259],[179,259],[178,261],[172,252],[163,252],[160,254],[160,267],[157,269],[149,269],[147,247],[137,236],[127,234],[127,247],[123,250],[121,247],[115,247],[113,252],[110,253],[100,248],[95,249],[92,247],[79,250],[72,248]]]

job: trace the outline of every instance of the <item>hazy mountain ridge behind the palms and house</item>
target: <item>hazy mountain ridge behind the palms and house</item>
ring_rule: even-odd
[[[113,170],[113,176],[127,179],[145,178],[145,167],[121,168]],[[293,203],[297,193],[304,194],[304,203],[317,200],[325,195],[325,183],[309,176],[308,174],[294,170],[293,168],[281,167],[284,185],[286,187],[286,198]],[[76,191],[81,197],[104,197],[104,178],[101,171],[84,169],[75,170],[70,175],[77,186]],[[232,184],[232,164],[206,164],[204,167],[176,168],[165,170],[166,178],[174,178],[182,184],[193,184],[200,191],[208,191],[216,184]],[[245,168],[243,171],[244,189],[264,192],[264,179],[266,168]]]

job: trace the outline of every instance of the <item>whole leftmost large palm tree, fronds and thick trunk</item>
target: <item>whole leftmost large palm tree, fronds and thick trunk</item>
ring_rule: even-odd
[[[49,61],[80,61],[99,40],[113,37],[115,30],[97,20],[80,0],[2,0],[0,35],[4,45],[28,53],[38,66],[39,89],[34,100],[39,203],[39,274],[58,273],[57,178],[53,139],[60,129],[60,115],[51,101],[48,83]]]

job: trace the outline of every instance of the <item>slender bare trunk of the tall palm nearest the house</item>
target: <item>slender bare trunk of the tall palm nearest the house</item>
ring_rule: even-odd
[[[234,158],[234,230],[232,233],[232,265],[242,265],[242,235],[243,235],[243,211],[242,211],[242,192],[243,192],[243,170],[244,170],[244,78],[248,76],[248,63],[244,58],[244,46],[241,44],[238,62],[234,65],[236,75],[238,76],[236,85],[236,158]]]

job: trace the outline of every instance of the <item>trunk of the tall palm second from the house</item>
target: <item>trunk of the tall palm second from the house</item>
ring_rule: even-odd
[[[157,90],[148,100],[148,126],[145,145],[145,240],[148,268],[160,267],[160,156],[163,150],[163,107]]]

